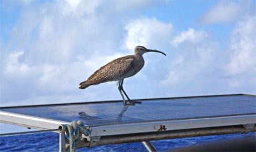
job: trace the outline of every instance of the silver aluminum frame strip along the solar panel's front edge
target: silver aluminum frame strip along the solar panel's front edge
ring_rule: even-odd
[[[90,136],[146,133],[152,131],[195,129],[244,124],[256,124],[256,114],[95,126],[91,127]]]

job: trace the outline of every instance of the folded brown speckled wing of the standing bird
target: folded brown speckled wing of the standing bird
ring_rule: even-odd
[[[129,72],[132,67],[134,67],[134,57],[132,55],[117,58],[104,65],[99,70],[96,70],[95,73],[93,73],[85,82],[80,83],[80,85],[100,84],[120,79],[123,75]]]

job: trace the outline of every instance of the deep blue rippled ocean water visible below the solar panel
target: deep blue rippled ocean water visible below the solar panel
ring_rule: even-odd
[[[151,141],[157,151],[171,151],[190,145],[199,145],[219,140],[243,138],[254,136],[249,134],[228,134],[214,136],[200,136],[194,138],[181,138]],[[58,133],[38,133],[25,135],[12,135],[0,137],[0,151],[58,151]],[[96,146],[94,148],[81,148],[76,151],[147,151],[142,143],[127,143],[116,145]]]

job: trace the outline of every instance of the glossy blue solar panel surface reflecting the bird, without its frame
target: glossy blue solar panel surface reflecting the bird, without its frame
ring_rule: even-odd
[[[124,106],[122,102],[106,102],[1,108],[1,110],[67,122],[83,120],[83,123],[89,126],[256,114],[256,97],[252,95],[141,101],[141,104],[135,106]]]

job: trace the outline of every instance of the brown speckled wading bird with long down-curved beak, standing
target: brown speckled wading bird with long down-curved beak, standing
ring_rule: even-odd
[[[136,46],[134,55],[126,55],[125,57],[117,58],[112,60],[110,63],[107,63],[100,69],[96,70],[86,81],[81,82],[79,84],[79,89],[85,89],[91,85],[97,85],[105,82],[117,81],[119,92],[124,100],[124,105],[135,105],[135,103],[141,103],[131,100],[125,93],[122,85],[125,78],[132,77],[142,69],[145,63],[142,55],[147,52],[157,52],[166,55],[160,50],[147,49],[140,45]],[[122,93],[125,94],[127,100],[125,100]]]

